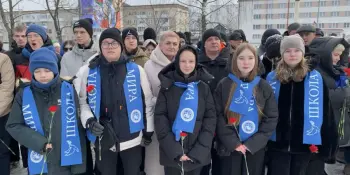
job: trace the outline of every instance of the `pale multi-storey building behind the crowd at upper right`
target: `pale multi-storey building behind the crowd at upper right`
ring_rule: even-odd
[[[266,29],[276,28],[283,33],[296,21],[318,26],[325,35],[350,34],[350,0],[303,0],[299,14],[295,14],[294,0],[239,0],[239,12],[239,28],[254,44],[260,43]]]

